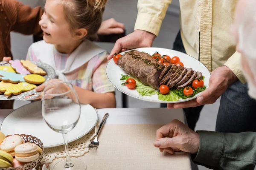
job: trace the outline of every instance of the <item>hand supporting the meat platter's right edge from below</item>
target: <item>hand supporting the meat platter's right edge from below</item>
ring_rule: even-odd
[[[237,80],[236,75],[227,66],[216,68],[212,71],[209,79],[209,88],[203,91],[200,96],[188,102],[168,104],[167,108],[189,108],[212,104]]]

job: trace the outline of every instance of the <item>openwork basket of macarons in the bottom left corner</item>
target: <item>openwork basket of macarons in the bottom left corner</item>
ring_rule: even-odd
[[[41,165],[44,145],[31,135],[0,132],[0,170],[32,170]]]

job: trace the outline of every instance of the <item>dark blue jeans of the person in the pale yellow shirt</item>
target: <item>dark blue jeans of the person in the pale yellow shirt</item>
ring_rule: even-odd
[[[177,34],[173,49],[186,53],[180,32]],[[161,104],[166,107],[166,104]],[[187,123],[194,130],[199,119],[200,112],[204,106],[195,108],[184,108]],[[256,100],[251,99],[247,94],[247,84],[239,81],[234,82],[221,95],[221,103],[218,110],[216,131],[240,133],[256,131]]]

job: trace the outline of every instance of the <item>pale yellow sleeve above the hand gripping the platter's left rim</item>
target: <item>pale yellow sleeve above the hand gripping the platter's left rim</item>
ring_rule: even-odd
[[[138,0],[138,15],[134,30],[158,35],[167,8],[172,0]]]

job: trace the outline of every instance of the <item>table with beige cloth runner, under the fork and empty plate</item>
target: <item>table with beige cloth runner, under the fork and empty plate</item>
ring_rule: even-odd
[[[0,110],[0,123],[12,110]],[[156,130],[173,119],[184,122],[181,109],[105,108],[99,109],[101,121],[109,113],[99,135],[99,147],[79,157],[87,170],[190,170],[187,153],[160,153],[153,146]],[[56,159],[50,167],[59,161]]]

